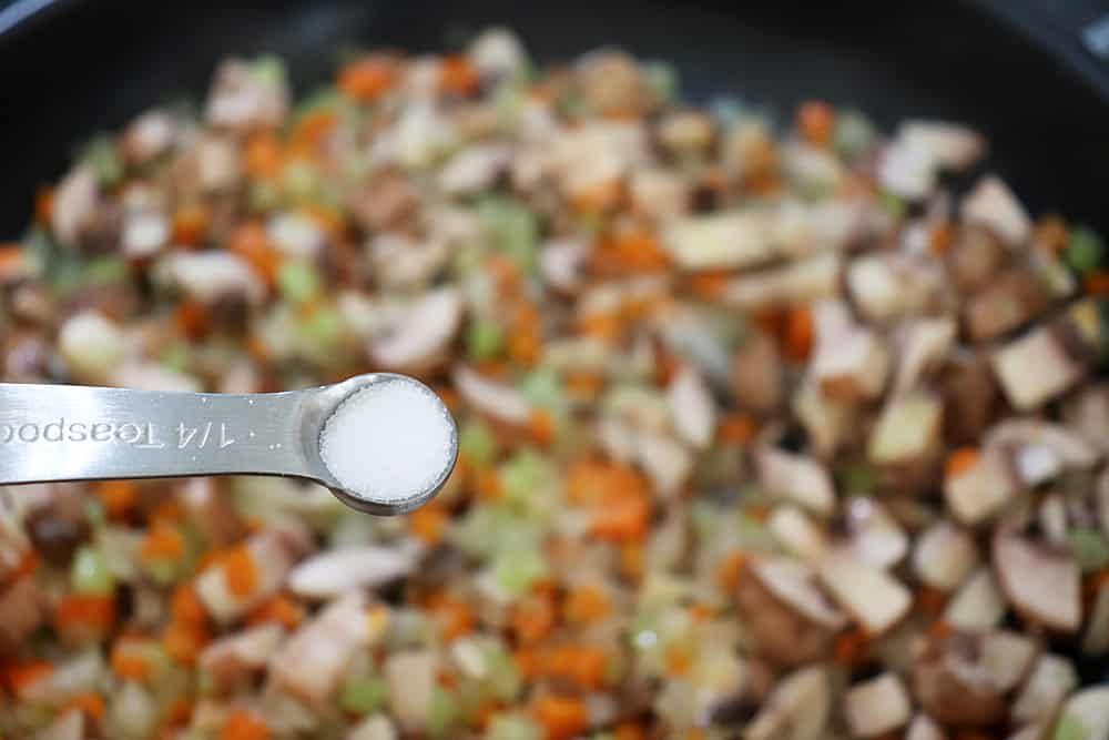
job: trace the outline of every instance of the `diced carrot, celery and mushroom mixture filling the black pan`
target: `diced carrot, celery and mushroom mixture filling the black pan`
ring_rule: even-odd
[[[1106,738],[1105,244],[985,150],[500,30],[225,61],[0,250],[3,378],[410,373],[458,467],[2,491],[0,736]]]

